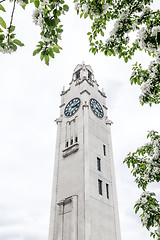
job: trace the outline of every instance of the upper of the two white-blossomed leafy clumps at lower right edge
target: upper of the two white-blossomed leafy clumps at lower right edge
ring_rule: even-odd
[[[129,166],[132,165],[135,182],[143,190],[148,183],[160,181],[160,136],[156,131],[150,131],[147,137],[151,141],[138,148],[135,153],[129,153],[124,160]]]

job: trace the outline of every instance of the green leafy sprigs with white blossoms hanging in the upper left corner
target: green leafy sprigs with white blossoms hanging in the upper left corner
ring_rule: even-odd
[[[0,29],[0,51],[2,53],[11,53],[17,50],[17,46],[24,46],[20,40],[15,39],[15,26],[12,25],[12,21],[16,4],[20,4],[25,9],[29,3],[34,3],[35,5],[32,15],[33,22],[40,27],[42,39],[38,42],[33,56],[40,54],[40,59],[49,65],[50,58],[54,58],[55,53],[59,53],[62,49],[59,46],[59,40],[63,32],[60,17],[69,10],[69,6],[63,0],[30,0],[30,2],[28,0],[14,0],[11,22],[8,28],[3,18],[0,17],[0,25],[2,26],[2,29]],[[5,11],[2,4],[0,4],[0,10]],[[5,29],[7,29],[6,34],[4,32]]]

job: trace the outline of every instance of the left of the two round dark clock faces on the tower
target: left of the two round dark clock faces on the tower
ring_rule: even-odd
[[[80,107],[80,99],[79,98],[73,98],[65,107],[64,109],[64,114],[67,117],[72,116],[73,114],[75,114],[75,112],[78,111],[79,107]]]

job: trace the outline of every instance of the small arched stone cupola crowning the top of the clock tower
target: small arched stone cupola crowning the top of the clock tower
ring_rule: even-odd
[[[87,81],[89,84],[93,85],[95,82],[94,73],[90,65],[86,65],[83,61],[82,64],[78,64],[74,71],[72,81],[77,84]]]

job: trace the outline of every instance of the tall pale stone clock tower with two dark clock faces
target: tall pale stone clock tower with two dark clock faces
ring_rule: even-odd
[[[120,240],[111,121],[89,65],[76,66],[56,123],[49,240]]]

